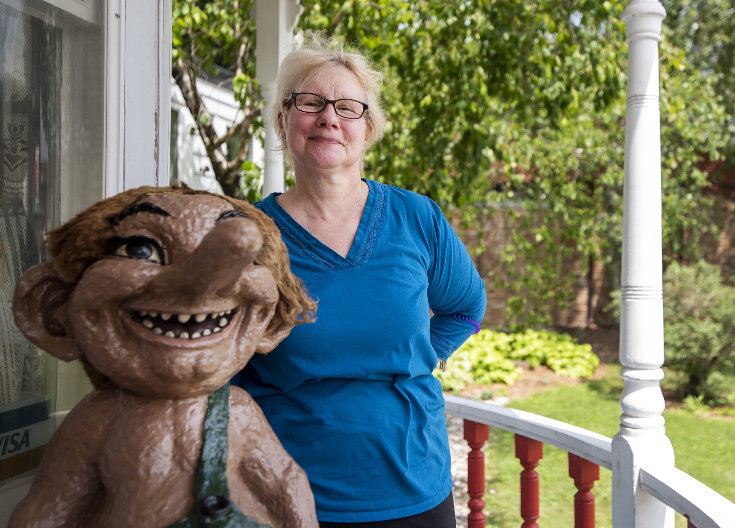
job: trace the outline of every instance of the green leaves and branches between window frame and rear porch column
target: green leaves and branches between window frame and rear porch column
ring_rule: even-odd
[[[262,125],[262,99],[255,76],[255,23],[250,17],[252,0],[173,0],[172,73],[184,101],[196,120],[196,129],[215,178],[226,195],[246,194],[259,170],[246,161],[250,138]],[[212,115],[201,100],[196,78],[201,72],[234,72],[232,89],[243,120],[221,136],[212,126]]]

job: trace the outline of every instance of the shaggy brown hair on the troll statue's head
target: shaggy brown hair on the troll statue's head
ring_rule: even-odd
[[[300,325],[315,320],[317,303],[306,294],[301,279],[291,272],[288,250],[273,220],[250,203],[214,192],[191,189],[186,184],[129,189],[112,198],[98,201],[60,228],[51,231],[46,237],[46,245],[49,247],[54,270],[62,281],[76,284],[90,264],[107,256],[107,240],[114,236],[110,219],[126,207],[151,195],[216,196],[228,202],[235,211],[246,214],[258,226],[263,238],[255,263],[270,270],[279,290],[276,314],[270,327],[279,323]]]

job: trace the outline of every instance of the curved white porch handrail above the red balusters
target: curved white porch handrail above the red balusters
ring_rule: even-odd
[[[612,438],[581,427],[526,411],[498,407],[451,395],[445,396],[445,412],[469,422],[497,427],[532,441],[559,447],[579,458],[610,469],[613,473],[616,472],[617,468],[612,461]],[[477,449],[473,449],[473,452],[477,452]],[[472,464],[468,469],[473,470]],[[476,480],[476,477],[473,479],[473,475],[470,475],[468,480],[472,482]],[[657,468],[644,463],[640,469],[638,482],[640,488],[650,496],[689,518],[689,527],[735,528],[735,504],[684,471],[666,466]],[[477,491],[471,495],[474,497],[473,500],[478,499]],[[522,507],[524,500],[531,503],[535,501],[537,505],[538,496],[524,497],[522,485]],[[594,508],[594,503],[592,505]],[[484,504],[476,502],[470,509],[473,512],[481,512],[483,507]],[[618,507],[620,505],[613,502],[613,515]],[[535,519],[532,522],[535,522]],[[589,524],[580,525],[590,526]],[[478,526],[484,526],[484,516],[481,521],[478,521],[478,516],[476,516],[474,523],[470,522],[470,528]]]

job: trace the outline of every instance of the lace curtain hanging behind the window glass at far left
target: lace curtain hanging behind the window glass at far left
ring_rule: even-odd
[[[44,393],[44,355],[12,322],[15,283],[45,259],[58,173],[60,30],[0,4],[0,408]]]

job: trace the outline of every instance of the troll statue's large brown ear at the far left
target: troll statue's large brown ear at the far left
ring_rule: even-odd
[[[12,311],[21,332],[51,355],[64,361],[79,358],[81,352],[57,311],[69,300],[74,286],[59,278],[51,262],[26,271],[15,286]]]

